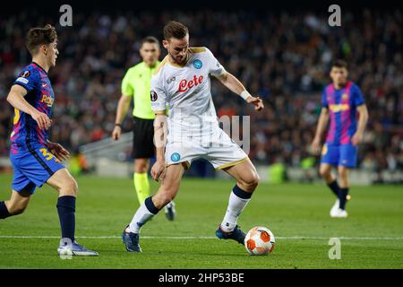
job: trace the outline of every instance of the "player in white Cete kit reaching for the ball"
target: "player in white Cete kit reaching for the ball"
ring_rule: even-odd
[[[245,234],[236,221],[251,199],[259,176],[246,153],[219,128],[211,99],[210,76],[253,104],[255,110],[264,108],[262,99],[246,91],[208,48],[190,48],[189,31],[183,24],[168,22],[162,43],[167,57],[155,71],[150,91],[151,106],[156,114],[154,142],[157,149],[151,176],[160,180],[161,186],[155,196],[141,204],[123,231],[125,248],[141,252],[141,226],[175,198],[184,170],[199,158],[210,161],[216,170],[224,170],[236,179],[227,213],[216,235],[219,239],[234,239],[244,244]]]

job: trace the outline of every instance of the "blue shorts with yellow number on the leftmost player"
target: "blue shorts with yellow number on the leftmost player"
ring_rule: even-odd
[[[64,169],[47,147],[40,144],[17,146],[13,144],[10,160],[14,168],[13,190],[33,195],[57,170]]]

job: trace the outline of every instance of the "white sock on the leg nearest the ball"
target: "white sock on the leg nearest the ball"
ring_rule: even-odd
[[[241,198],[236,196],[234,191],[231,192],[229,195],[227,213],[220,225],[221,230],[230,232],[235,229],[239,215],[244,210],[244,206],[246,206],[250,200],[251,198]]]

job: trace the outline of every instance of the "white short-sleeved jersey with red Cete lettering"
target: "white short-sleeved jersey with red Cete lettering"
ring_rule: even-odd
[[[168,109],[168,142],[184,134],[202,138],[217,133],[219,121],[211,99],[210,75],[226,70],[208,48],[188,48],[184,65],[165,57],[151,80],[151,108]]]

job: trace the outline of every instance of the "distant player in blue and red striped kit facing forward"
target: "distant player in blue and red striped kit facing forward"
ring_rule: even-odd
[[[322,112],[313,139],[313,151],[319,152],[322,134],[330,119],[326,143],[322,146],[320,174],[337,196],[330,209],[333,218],[347,217],[348,173],[356,168],[357,145],[363,140],[368,121],[363,94],[356,83],[347,80],[347,76],[347,63],[336,60],[330,69],[332,83],[322,92]],[[339,182],[331,174],[332,166],[338,169]]]

